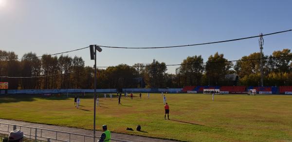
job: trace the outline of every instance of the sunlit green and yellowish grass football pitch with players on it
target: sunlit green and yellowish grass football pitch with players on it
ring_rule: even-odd
[[[101,98],[97,128],[107,124],[113,132],[180,141],[292,141],[292,96],[165,94],[170,120],[164,120],[161,94],[134,100]],[[100,95],[100,97],[103,95]],[[73,96],[71,96],[73,97]],[[0,118],[93,129],[92,94],[81,98],[81,107],[66,95],[0,96]],[[136,125],[141,132],[127,131]]]

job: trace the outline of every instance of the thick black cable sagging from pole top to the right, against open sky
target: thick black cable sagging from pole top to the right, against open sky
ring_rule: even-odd
[[[100,47],[106,47],[106,48],[122,48],[122,49],[174,48],[174,47],[196,46],[196,45],[205,45],[205,44],[214,44],[214,43],[222,43],[222,42],[246,40],[246,39],[257,38],[257,37],[260,37],[260,36],[269,36],[269,35],[280,34],[280,33],[284,33],[284,32],[290,32],[290,31],[292,31],[292,29],[286,30],[286,31],[274,32],[274,33],[270,33],[270,34],[264,34],[264,35],[246,37],[246,38],[233,39],[233,40],[214,41],[214,42],[206,42],[206,43],[198,43],[198,44],[187,44],[187,45],[176,45],[176,46],[162,46],[162,47],[116,47],[116,46],[104,46],[104,45],[98,45],[98,46],[100,46]]]

